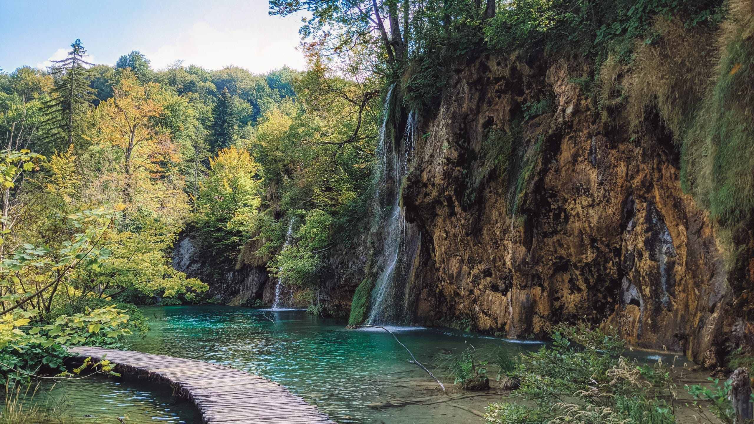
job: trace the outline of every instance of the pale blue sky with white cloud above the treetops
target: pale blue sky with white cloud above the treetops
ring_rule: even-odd
[[[209,69],[304,67],[300,16],[271,17],[266,0],[0,0],[0,68],[46,66],[81,38],[90,62],[139,50],[161,69],[176,60]]]

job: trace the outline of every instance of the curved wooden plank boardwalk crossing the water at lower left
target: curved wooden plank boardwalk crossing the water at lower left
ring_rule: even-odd
[[[335,424],[278,383],[225,365],[84,346],[69,351],[92,359],[107,354],[118,372],[170,384],[196,405],[206,424]]]

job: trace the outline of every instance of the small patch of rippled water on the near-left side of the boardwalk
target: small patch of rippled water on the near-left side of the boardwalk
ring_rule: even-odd
[[[32,402],[45,409],[54,407],[63,422],[117,424],[118,417],[127,424],[201,422],[195,407],[176,401],[169,386],[103,376],[60,383],[45,380],[40,386]]]

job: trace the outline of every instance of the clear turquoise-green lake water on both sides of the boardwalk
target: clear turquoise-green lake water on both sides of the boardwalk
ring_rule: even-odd
[[[408,353],[384,330],[346,330],[345,320],[317,318],[300,310],[270,311],[229,306],[161,306],[143,309],[152,331],[145,339],[128,340],[130,349],[228,364],[277,381],[302,396],[338,422],[388,424],[450,424],[481,422],[467,410],[447,404],[409,405],[372,409],[368,404],[389,399],[437,396],[437,384],[406,359]],[[389,327],[415,355],[429,364],[447,349],[460,352],[501,347],[511,352],[538,349],[541,343],[516,342],[455,330]],[[636,358],[657,355],[633,352]],[[672,355],[660,355],[672,361]],[[648,359],[651,360],[651,359]],[[493,373],[492,378],[495,377]],[[449,392],[458,392],[443,379]],[[74,383],[69,383],[74,384]],[[146,422],[199,422],[187,404],[173,404],[166,386],[124,380],[96,380],[90,387],[75,386],[71,399],[76,415],[126,414],[127,424]],[[73,386],[72,386],[73,387]],[[63,390],[64,388],[60,388]],[[66,390],[70,392],[70,390]],[[97,396],[105,410],[90,404]],[[483,411],[500,395],[494,390],[473,399],[456,401]],[[101,405],[102,406],[102,405]],[[100,406],[100,407],[101,407]],[[121,409],[118,409],[121,408]],[[103,412],[104,411],[104,412]],[[78,422],[99,424],[97,420]],[[107,419],[103,422],[117,422]]]

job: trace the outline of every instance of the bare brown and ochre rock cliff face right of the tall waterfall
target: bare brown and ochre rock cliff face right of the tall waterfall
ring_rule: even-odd
[[[485,57],[453,73],[403,189],[421,228],[417,320],[524,337],[586,318],[700,358],[731,300],[715,230],[662,125],[604,123],[574,82],[585,71]]]

